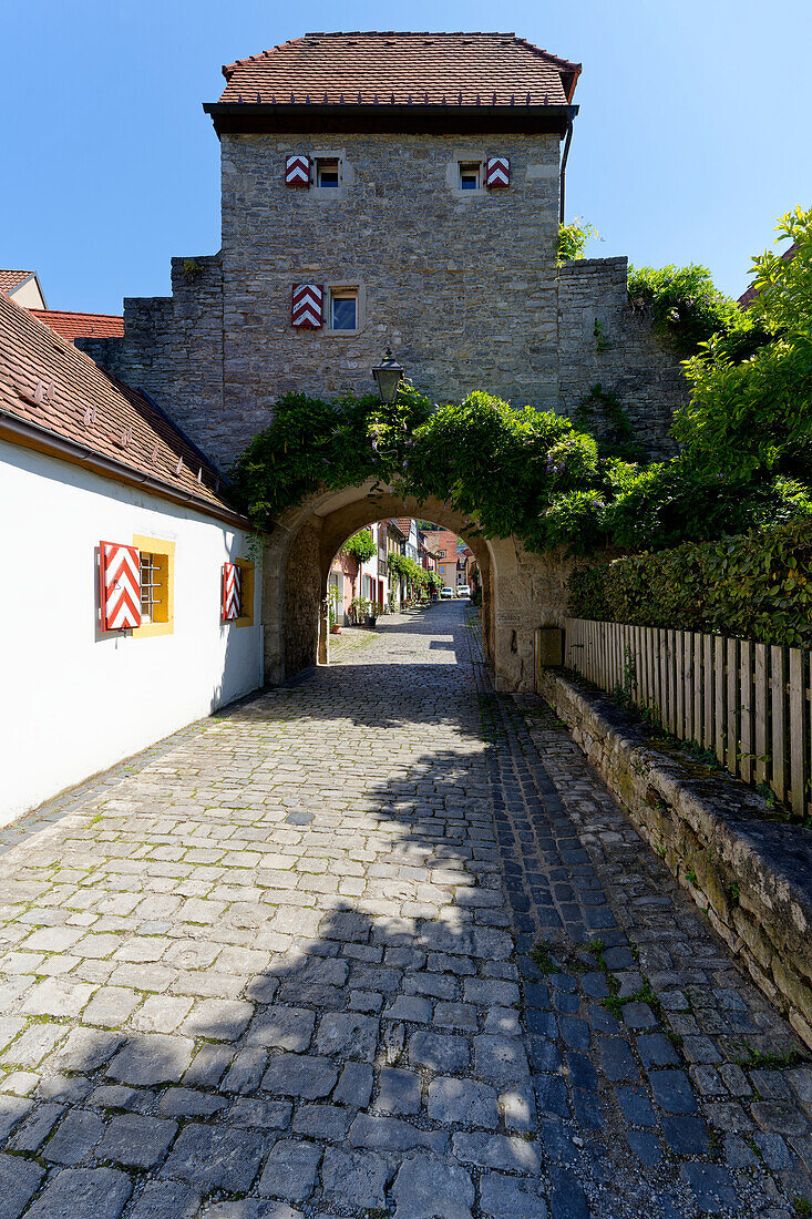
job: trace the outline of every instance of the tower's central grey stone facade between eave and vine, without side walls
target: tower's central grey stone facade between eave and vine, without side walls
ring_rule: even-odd
[[[224,378],[234,447],[278,394],[367,393],[391,346],[438,400],[474,389],[555,407],[558,140],[389,134],[222,140]],[[462,191],[499,151],[511,188]],[[334,155],[338,189],[290,190],[285,157]],[[294,282],[358,293],[358,328],[297,330]],[[329,315],[329,295],[327,296]]]

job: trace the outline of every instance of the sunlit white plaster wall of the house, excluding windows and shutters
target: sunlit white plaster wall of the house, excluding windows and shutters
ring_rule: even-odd
[[[174,630],[102,634],[100,540],[174,541]],[[0,441],[0,825],[262,684],[262,627],[221,623],[248,535]],[[255,580],[254,622],[260,623]]]

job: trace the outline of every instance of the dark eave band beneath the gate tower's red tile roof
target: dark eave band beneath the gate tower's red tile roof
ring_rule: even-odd
[[[321,105],[207,101],[218,135],[263,132],[521,132],[563,137],[578,106]]]

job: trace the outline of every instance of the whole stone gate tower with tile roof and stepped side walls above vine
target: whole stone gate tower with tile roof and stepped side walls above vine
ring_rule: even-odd
[[[221,463],[279,394],[372,389],[385,347],[435,400],[572,412],[600,383],[669,451],[682,378],[625,260],[556,267],[580,65],[515,34],[333,33],[223,72],[222,249],[127,300],[124,338],[83,344],[100,363]]]

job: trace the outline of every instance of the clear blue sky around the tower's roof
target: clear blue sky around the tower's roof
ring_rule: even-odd
[[[0,266],[52,308],[166,294],[172,255],[219,246],[221,65],[308,29],[512,29],[580,61],[567,216],[594,255],[705,263],[739,295],[812,205],[810,0],[27,0],[0,13]]]

